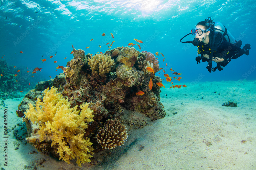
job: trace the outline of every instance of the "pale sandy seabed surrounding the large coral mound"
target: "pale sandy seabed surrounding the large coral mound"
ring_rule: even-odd
[[[13,132],[18,129],[22,135],[26,130],[19,126],[22,119],[15,113],[22,98],[7,99],[4,103],[11,132],[3,135],[5,108],[0,106],[0,165],[6,170],[25,166],[49,170],[256,169],[256,81],[186,85],[162,88],[164,119],[135,129],[125,145],[110,150],[98,165],[82,167],[38,152],[25,140],[17,141]],[[237,102],[238,107],[222,106],[228,100]],[[8,166],[4,166],[4,136],[8,136]]]

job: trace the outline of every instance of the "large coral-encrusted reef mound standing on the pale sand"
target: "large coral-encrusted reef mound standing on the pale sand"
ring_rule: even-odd
[[[39,151],[50,152],[51,155],[69,162],[70,159],[75,158],[74,152],[78,153],[76,155],[82,154],[78,151],[81,148],[78,148],[76,145],[80,140],[86,146],[81,143],[79,145],[83,148],[87,147],[86,151],[88,151],[84,155],[83,161],[80,162],[88,162],[90,159],[94,159],[90,158],[90,154],[114,148],[115,145],[122,145],[127,138],[128,132],[132,133],[133,129],[142,128],[150,121],[161,119],[165,116],[165,110],[160,101],[161,88],[156,85],[158,82],[161,83],[162,79],[145,69],[147,66],[151,66],[155,72],[159,71],[158,60],[152,53],[147,51],[140,53],[133,47],[117,47],[106,51],[104,54],[95,54],[94,56],[91,54],[86,55],[81,49],[73,49],[73,56],[73,59],[68,61],[67,66],[64,67],[63,73],[56,75],[53,80],[38,83],[35,90],[30,90],[16,111],[17,115],[22,117],[26,109],[27,112],[32,113],[35,107],[38,108],[39,101],[44,106],[45,92],[47,90],[45,92],[42,91],[45,88],[49,88],[50,90],[54,89],[55,96],[59,96],[58,99],[64,104],[60,106],[56,103],[57,105],[51,108],[47,106],[41,107],[38,108],[39,110],[36,109],[36,112],[40,112],[40,109],[49,108],[49,111],[56,108],[56,110],[51,112],[57,113],[58,108],[58,110],[62,109],[63,116],[69,117],[69,114],[66,113],[68,109],[71,109],[69,113],[76,115],[70,120],[70,123],[67,123],[67,120],[63,120],[63,123],[58,122],[59,126],[63,126],[63,128],[55,127],[55,129],[60,129],[58,133],[61,133],[61,135],[73,133],[73,136],[65,136],[61,140],[55,139],[55,135],[52,132],[54,130],[50,129],[55,124],[46,123],[40,126],[42,129],[45,129],[44,134],[46,135],[43,136],[44,140],[42,140],[41,135],[43,133],[39,130],[39,126],[25,119],[27,132],[30,134],[27,141],[33,144]],[[148,86],[150,79],[153,82],[152,89]],[[49,87],[50,85],[53,87]],[[57,91],[66,99],[60,98],[61,95]],[[138,91],[143,91],[144,94],[138,96],[135,94]],[[52,99],[51,102],[55,101]],[[91,117],[92,121],[90,123],[89,121],[84,123],[87,124],[86,130],[84,130],[85,127],[83,130],[80,129],[80,134],[83,135],[78,136],[79,133],[75,131],[68,132],[67,130],[70,127],[66,126],[67,124],[71,126],[70,124],[76,123],[75,120],[79,116],[83,116],[81,113],[78,115],[76,113],[82,109],[79,106],[83,106],[84,103],[90,103],[88,107],[93,111],[94,117]],[[35,113],[35,109],[33,113]],[[37,117],[36,122],[44,122],[42,119],[45,119],[45,115],[41,115],[41,113],[38,114],[40,116]],[[36,117],[33,117],[33,119],[36,119]],[[126,126],[129,131],[123,130],[122,135],[124,138],[119,136],[120,139],[118,140],[120,140],[119,142],[122,141],[122,143],[112,143],[111,145],[109,145],[111,143],[109,141],[107,144],[104,143],[108,139],[106,139],[107,134],[105,134],[106,131],[103,133],[103,129],[108,124],[111,124],[111,122],[121,126],[121,123],[117,120],[120,120],[123,124],[122,127]],[[114,127],[114,124],[111,126]],[[65,132],[63,129],[66,129]],[[114,129],[112,131],[114,132]],[[98,132],[100,133],[96,137]],[[72,137],[76,139],[74,139],[73,143],[70,143],[70,140],[73,139]],[[113,137],[118,138],[117,136]],[[103,142],[104,139],[105,141]],[[92,147],[94,148],[93,151]],[[77,157],[77,160],[79,159],[80,157]]]

